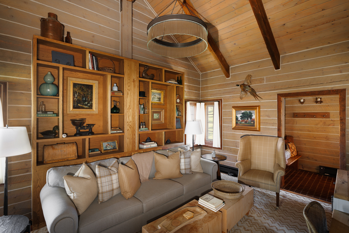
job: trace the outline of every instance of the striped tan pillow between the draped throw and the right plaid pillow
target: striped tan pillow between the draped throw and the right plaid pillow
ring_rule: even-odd
[[[177,151],[166,157],[164,155],[154,153],[155,157],[155,177],[153,179],[174,179],[182,177],[180,173],[180,152]]]

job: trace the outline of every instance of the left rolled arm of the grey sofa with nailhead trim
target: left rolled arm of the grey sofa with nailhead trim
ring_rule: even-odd
[[[49,187],[46,183],[40,191],[40,200],[50,233],[77,233],[77,211],[64,188]]]

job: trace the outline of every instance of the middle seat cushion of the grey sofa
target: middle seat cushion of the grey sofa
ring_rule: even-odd
[[[143,182],[134,197],[143,203],[143,212],[156,208],[172,199],[183,195],[183,185],[169,179]]]

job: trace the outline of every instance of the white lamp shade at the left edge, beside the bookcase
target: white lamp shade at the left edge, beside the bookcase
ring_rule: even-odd
[[[0,157],[23,155],[31,152],[27,128],[0,127]]]

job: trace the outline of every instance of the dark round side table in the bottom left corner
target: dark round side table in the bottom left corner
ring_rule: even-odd
[[[0,217],[0,233],[30,233],[29,219],[23,215]]]

